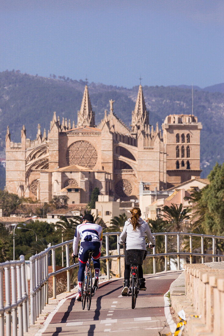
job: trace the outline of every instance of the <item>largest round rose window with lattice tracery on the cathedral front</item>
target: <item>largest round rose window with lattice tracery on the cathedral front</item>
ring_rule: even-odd
[[[66,153],[68,165],[79,165],[92,169],[97,163],[97,151],[88,141],[79,140],[72,143]]]

